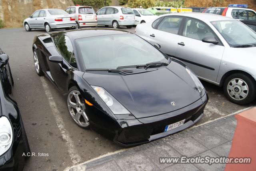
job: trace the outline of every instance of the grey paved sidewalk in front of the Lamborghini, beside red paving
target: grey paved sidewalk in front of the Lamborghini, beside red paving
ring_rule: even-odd
[[[236,119],[231,115],[72,167],[70,171],[222,171],[225,164],[160,164],[159,157],[228,156],[235,128]]]

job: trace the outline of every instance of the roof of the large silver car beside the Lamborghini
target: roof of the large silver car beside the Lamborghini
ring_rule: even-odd
[[[186,17],[197,18],[204,22],[206,21],[212,22],[212,21],[218,21],[218,20],[235,20],[233,18],[228,18],[226,16],[221,16],[217,14],[200,13],[200,12],[171,13],[171,14],[164,14],[161,16],[186,16]]]

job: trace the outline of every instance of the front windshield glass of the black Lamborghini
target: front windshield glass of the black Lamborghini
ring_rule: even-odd
[[[119,66],[168,62],[168,57],[134,34],[76,39],[86,69],[117,69]]]

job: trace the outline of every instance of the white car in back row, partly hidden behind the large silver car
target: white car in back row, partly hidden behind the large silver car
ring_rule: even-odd
[[[143,9],[143,8],[132,8],[134,15],[135,15],[135,23],[134,25],[138,25],[141,23],[149,22],[150,20],[153,20],[157,16],[154,15],[149,10]]]

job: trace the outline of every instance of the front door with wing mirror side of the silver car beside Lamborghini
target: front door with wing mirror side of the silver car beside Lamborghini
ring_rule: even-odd
[[[218,44],[202,42],[205,37],[214,37]],[[176,40],[176,58],[182,60],[199,77],[216,81],[224,46],[204,22],[186,18],[182,36]]]

